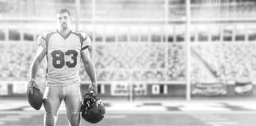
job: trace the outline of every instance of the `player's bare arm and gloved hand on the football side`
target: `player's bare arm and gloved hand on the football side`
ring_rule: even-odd
[[[35,77],[36,77],[38,68],[40,66],[40,63],[42,62],[46,54],[47,54],[47,49],[44,46],[40,45],[30,67],[30,80],[29,80],[29,84],[27,84],[27,96],[29,96],[29,92],[31,93],[31,95],[33,95],[32,87],[35,87],[36,89],[40,90],[39,87],[35,84]]]

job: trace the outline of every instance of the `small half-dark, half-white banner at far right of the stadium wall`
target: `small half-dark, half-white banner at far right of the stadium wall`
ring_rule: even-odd
[[[252,94],[252,82],[235,82],[235,94],[246,96]]]

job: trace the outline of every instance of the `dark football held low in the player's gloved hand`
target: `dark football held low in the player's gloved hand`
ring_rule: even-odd
[[[33,87],[33,95],[29,92],[29,96],[27,97],[29,104],[36,110],[39,110],[43,104],[43,96],[41,92]]]

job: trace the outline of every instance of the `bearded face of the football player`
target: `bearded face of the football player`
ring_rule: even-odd
[[[61,13],[56,15],[56,23],[58,25],[58,29],[67,30],[69,29],[71,18],[68,13]]]

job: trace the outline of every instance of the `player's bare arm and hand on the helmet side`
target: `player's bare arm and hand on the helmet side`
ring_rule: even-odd
[[[98,93],[96,71],[95,71],[94,64],[92,63],[92,60],[90,58],[89,50],[84,49],[84,50],[80,51],[80,53],[82,56],[85,71],[92,82],[92,85],[91,85],[90,89],[88,90],[88,93],[93,92],[93,95],[96,96]]]

